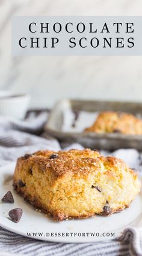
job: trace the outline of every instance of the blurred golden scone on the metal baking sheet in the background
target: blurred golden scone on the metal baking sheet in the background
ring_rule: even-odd
[[[100,112],[94,124],[85,132],[142,135],[142,120],[123,112]]]

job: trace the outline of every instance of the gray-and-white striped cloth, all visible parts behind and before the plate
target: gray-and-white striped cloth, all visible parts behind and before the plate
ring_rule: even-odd
[[[0,165],[15,161],[17,157],[40,149],[61,149],[60,144],[48,135],[39,137],[36,133],[42,128],[47,115],[39,115],[26,121],[5,120],[0,117]],[[67,149],[82,149],[79,144],[72,144]],[[109,152],[102,152],[108,155]],[[141,155],[134,149],[117,150],[114,156],[125,160],[131,167],[141,169]],[[140,256],[142,255],[142,231],[126,229],[117,240],[97,243],[51,243],[34,240],[14,234],[0,228],[0,256],[9,255],[40,255],[40,256]]]

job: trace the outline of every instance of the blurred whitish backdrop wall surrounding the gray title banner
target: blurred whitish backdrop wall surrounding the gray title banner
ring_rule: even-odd
[[[15,15],[142,15],[141,0],[0,0],[0,89],[28,92],[32,107],[69,97],[142,101],[142,56],[12,57]]]

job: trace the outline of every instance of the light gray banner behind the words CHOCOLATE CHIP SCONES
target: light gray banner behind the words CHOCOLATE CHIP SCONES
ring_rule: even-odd
[[[16,16],[14,56],[141,56],[142,16]]]

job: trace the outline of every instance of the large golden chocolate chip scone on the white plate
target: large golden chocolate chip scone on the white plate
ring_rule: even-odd
[[[44,150],[17,159],[13,187],[62,221],[124,210],[140,192],[140,181],[125,162],[95,150]]]

